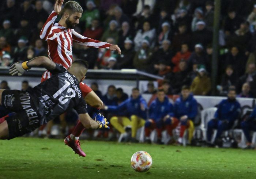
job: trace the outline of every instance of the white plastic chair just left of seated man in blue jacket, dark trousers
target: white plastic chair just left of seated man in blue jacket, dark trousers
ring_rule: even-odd
[[[214,118],[214,114],[217,111],[217,107],[211,107],[211,108],[207,108],[203,111],[201,111],[201,125],[200,125],[200,129],[202,130],[203,133],[203,140],[206,141],[206,131],[207,131],[207,124],[208,122]],[[216,131],[214,131],[214,135],[216,136]],[[215,137],[213,137],[214,139]]]

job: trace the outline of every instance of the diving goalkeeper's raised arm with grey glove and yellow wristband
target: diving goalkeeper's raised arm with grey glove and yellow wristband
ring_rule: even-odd
[[[56,64],[53,61],[51,61],[48,57],[35,57],[30,61],[12,64],[9,68],[9,73],[12,76],[17,74],[18,76],[21,76],[32,67],[44,67],[50,71],[56,67]]]

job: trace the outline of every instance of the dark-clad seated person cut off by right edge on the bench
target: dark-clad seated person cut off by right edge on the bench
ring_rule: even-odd
[[[244,135],[248,141],[246,148],[252,148],[252,138],[250,136],[251,131],[256,131],[256,107],[253,109],[252,114],[241,122],[241,127]]]

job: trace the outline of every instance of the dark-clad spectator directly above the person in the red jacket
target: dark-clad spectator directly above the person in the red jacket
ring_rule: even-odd
[[[188,47],[190,47],[191,44],[191,34],[187,31],[187,26],[185,24],[180,24],[178,26],[178,33],[173,37],[172,49],[174,53],[181,50],[182,44],[187,44]]]

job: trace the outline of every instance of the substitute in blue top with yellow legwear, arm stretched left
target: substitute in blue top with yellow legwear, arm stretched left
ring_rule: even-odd
[[[112,117],[110,123],[124,136],[127,135],[124,126],[132,126],[132,142],[138,142],[135,139],[137,129],[144,126],[147,118],[147,103],[140,95],[138,88],[133,88],[131,98],[128,98],[118,106],[103,106],[103,108],[110,112],[125,111],[128,117],[119,117],[119,119]]]

